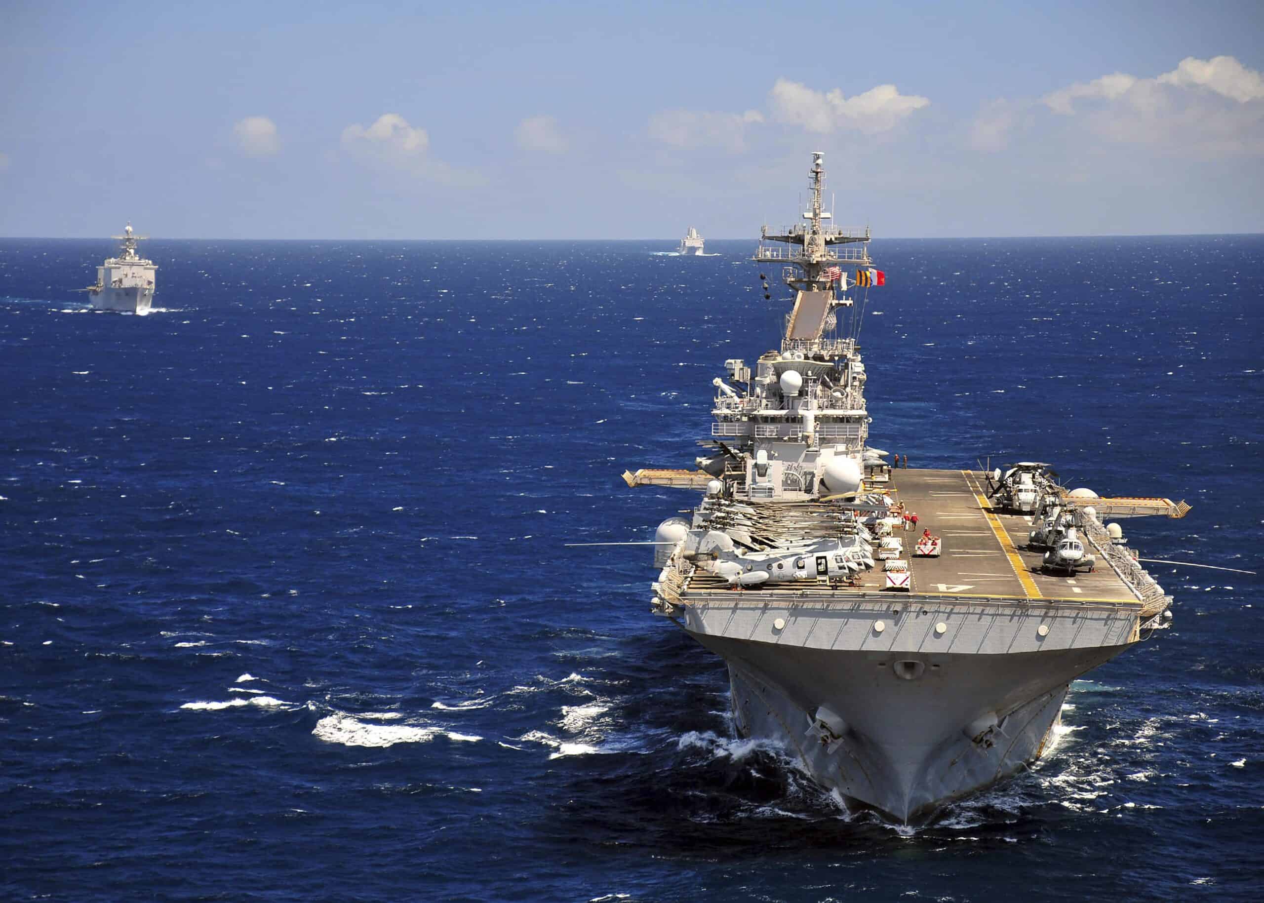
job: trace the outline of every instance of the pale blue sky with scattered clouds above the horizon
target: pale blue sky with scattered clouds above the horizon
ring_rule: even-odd
[[[14,4],[0,235],[1264,231],[1264,4]]]

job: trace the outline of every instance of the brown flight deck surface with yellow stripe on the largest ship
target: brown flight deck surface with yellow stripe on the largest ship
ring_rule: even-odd
[[[987,501],[986,478],[971,470],[891,470],[886,489],[909,513],[915,530],[896,531],[904,539],[904,558],[911,572],[908,593],[885,591],[881,568],[861,574],[852,584],[830,587],[824,580],[779,583],[744,593],[808,593],[813,597],[890,592],[891,596],[963,596],[1005,599],[1066,599],[1139,605],[1131,588],[1103,556],[1092,572],[1073,577],[1040,570],[1044,550],[1028,550],[1031,517],[995,511]],[[923,529],[943,540],[939,558],[913,555]],[[694,572],[681,588],[685,594],[728,589],[724,580]]]

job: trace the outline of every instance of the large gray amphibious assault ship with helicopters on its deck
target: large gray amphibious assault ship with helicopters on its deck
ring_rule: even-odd
[[[623,478],[703,493],[657,529],[652,606],[727,661],[737,731],[848,806],[924,821],[1038,759],[1071,682],[1169,625],[1105,520],[1188,506],[1068,492],[1031,462],[891,468],[857,344],[884,273],[868,229],[822,209],[823,154],[809,175],[804,221],[755,255],[794,292],[780,349],[724,363],[698,469]]]

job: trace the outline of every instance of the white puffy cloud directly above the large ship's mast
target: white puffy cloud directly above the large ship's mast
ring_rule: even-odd
[[[820,134],[841,128],[856,128],[865,134],[886,132],[930,105],[927,97],[900,94],[895,85],[878,85],[846,97],[842,89],[815,91],[787,78],[777,78],[770,100],[780,121]]]

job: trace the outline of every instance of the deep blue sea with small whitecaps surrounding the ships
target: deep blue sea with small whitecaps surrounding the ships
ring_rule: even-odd
[[[0,897],[1259,899],[1264,583],[1077,680],[1034,769],[897,830],[732,739],[648,611],[755,242],[0,240]],[[1149,558],[1264,570],[1264,236],[875,240],[871,441],[1038,459]],[[771,273],[770,273],[771,274]]]

